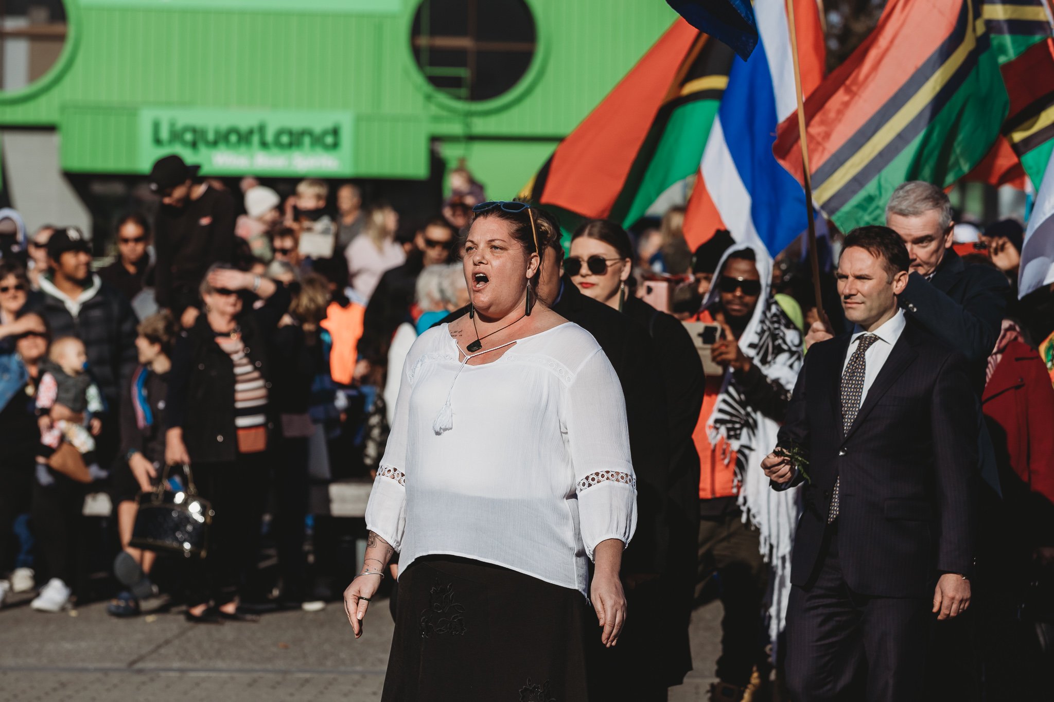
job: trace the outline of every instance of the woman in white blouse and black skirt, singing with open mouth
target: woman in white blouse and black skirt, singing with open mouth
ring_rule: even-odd
[[[637,489],[625,402],[596,340],[534,295],[557,221],[520,202],[474,212],[472,312],[407,356],[345,609],[362,636],[398,551],[384,701],[585,701],[588,605],[604,645],[626,618],[619,566]]]

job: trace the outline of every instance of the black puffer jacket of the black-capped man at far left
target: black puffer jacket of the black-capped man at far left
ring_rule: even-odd
[[[136,316],[129,301],[109,283],[92,277],[89,288],[97,287],[92,297],[81,303],[76,317],[66,308],[61,295],[51,281],[41,283],[43,290],[30,301],[31,308],[47,321],[52,339],[77,337],[84,342],[92,377],[106,400],[109,412],[116,412],[120,388],[135,370]]]

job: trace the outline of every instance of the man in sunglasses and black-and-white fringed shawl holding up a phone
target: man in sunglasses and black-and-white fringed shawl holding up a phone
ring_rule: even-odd
[[[707,584],[718,576],[725,614],[713,694],[740,699],[766,677],[758,670],[766,665],[759,633],[770,575],[770,638],[781,628],[789,591],[785,568],[770,574],[766,563],[785,561],[797,507],[793,499],[773,499],[754,457],[776,445],[801,367],[802,342],[773,294],[773,264],[763,247],[733,244],[715,270],[696,317],[719,327],[710,360],[722,368],[707,375],[692,435],[700,456],[696,597],[707,599]]]

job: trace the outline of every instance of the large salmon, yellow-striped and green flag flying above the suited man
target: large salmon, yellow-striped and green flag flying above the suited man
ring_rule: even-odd
[[[1042,1],[890,2],[863,44],[805,101],[814,196],[839,228],[882,222],[890,195],[906,180],[954,183],[1000,137],[1012,148],[1035,148],[1020,126],[1003,133],[1015,117],[1004,69],[1049,36]],[[1031,128],[1030,114],[1021,107],[1018,117]],[[774,152],[801,178],[793,120],[780,125]]]

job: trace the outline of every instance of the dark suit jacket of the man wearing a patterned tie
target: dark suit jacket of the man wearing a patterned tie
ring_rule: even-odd
[[[976,520],[980,409],[970,366],[909,321],[842,430],[841,376],[850,335],[812,346],[782,446],[808,456],[790,582],[804,586],[816,567],[831,493],[840,477],[838,558],[860,595],[930,597],[938,573],[970,574]]]

